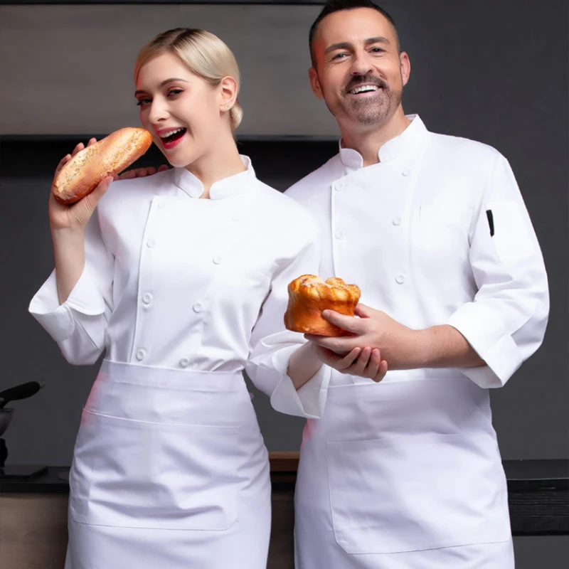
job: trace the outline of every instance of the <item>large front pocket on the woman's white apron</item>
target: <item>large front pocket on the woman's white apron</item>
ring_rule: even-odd
[[[70,514],[101,526],[223,531],[238,517],[238,432],[84,410]]]

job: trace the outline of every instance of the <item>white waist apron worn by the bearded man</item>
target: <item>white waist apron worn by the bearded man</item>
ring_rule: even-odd
[[[457,371],[419,372],[330,387],[307,423],[297,569],[514,567],[488,391]]]

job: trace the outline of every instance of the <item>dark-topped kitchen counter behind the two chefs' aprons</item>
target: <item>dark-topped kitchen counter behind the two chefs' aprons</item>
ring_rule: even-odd
[[[270,453],[272,533],[267,569],[293,569],[298,453]],[[569,460],[506,460],[514,536],[569,535]],[[0,567],[61,569],[67,544],[68,467],[0,477]]]

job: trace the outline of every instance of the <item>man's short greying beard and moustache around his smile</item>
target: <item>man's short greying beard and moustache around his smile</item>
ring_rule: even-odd
[[[377,85],[380,87],[373,95],[350,95],[349,91],[358,85]],[[334,111],[329,110],[336,118],[346,118],[359,124],[371,127],[385,120],[395,112],[403,98],[403,87],[393,90],[383,79],[374,75],[354,77],[343,92],[339,104]]]

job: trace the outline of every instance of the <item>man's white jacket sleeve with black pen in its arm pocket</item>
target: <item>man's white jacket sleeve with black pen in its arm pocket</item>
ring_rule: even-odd
[[[462,373],[501,387],[543,341],[549,313],[546,267],[508,161],[497,154],[470,232],[478,292],[450,317],[486,362]]]

